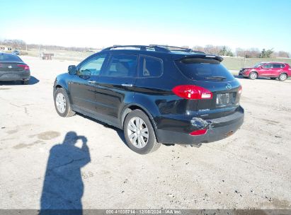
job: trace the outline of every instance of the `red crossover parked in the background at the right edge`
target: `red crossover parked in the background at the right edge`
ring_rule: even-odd
[[[239,71],[239,76],[244,76],[251,80],[258,77],[267,77],[285,81],[291,76],[291,67],[283,62],[261,62],[253,66],[253,68],[242,68]]]

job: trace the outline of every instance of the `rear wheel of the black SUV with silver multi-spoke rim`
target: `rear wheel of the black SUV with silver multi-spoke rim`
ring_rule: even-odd
[[[144,130],[144,132],[142,132],[142,130]],[[132,112],[127,114],[123,124],[123,131],[127,146],[136,153],[151,153],[161,146],[161,144],[156,141],[154,128],[149,121],[149,117],[147,117],[142,110],[132,110]]]

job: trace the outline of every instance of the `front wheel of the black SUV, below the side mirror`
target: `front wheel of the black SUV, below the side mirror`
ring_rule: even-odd
[[[55,110],[57,110],[57,114],[61,117],[72,117],[76,112],[72,110],[71,104],[69,103],[69,97],[67,92],[64,91],[63,88],[57,88],[54,93],[54,103]],[[59,105],[59,106],[58,106]],[[59,108],[61,107],[62,108]]]

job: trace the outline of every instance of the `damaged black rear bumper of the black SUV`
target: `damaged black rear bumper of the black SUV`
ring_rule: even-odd
[[[244,122],[244,109],[240,107],[239,111],[227,117],[220,117],[213,120],[207,120],[207,133],[192,136],[184,132],[173,132],[166,129],[157,129],[157,139],[163,144],[196,144],[209,143],[227,138],[236,132]],[[203,128],[200,128],[203,129]]]

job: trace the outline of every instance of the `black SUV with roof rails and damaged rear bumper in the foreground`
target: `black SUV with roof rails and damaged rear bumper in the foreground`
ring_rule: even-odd
[[[220,62],[180,47],[108,47],[57,76],[55,108],[62,117],[80,112],[123,129],[137,153],[161,143],[200,146],[244,121],[241,85]]]

